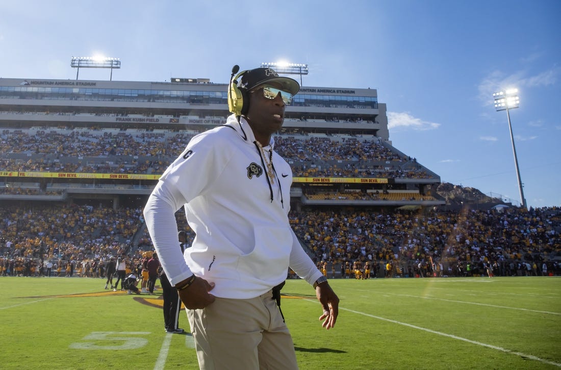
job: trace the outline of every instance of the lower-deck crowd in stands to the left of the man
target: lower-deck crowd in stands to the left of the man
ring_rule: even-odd
[[[83,261],[128,248],[141,225],[141,209],[36,205],[0,208],[3,257]]]

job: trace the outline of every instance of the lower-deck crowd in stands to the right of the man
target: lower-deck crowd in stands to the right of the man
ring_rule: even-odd
[[[553,263],[555,257],[561,262],[559,207],[421,214],[341,209],[292,214],[296,234],[310,246],[315,259],[338,264],[390,261],[409,271],[439,263],[444,271],[462,275],[467,264],[473,269],[496,262],[506,271],[505,265],[513,262]]]

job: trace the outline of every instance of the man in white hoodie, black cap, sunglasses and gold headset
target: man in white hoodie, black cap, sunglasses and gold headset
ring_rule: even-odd
[[[187,144],[160,177],[144,217],[187,307],[200,368],[295,369],[292,337],[273,299],[288,267],[314,287],[323,327],[335,325],[339,303],[289,225],[292,170],[273,150],[272,135],[300,86],[270,68],[234,78],[234,68],[234,114]],[[174,217],[183,205],[196,233],[184,256]]]

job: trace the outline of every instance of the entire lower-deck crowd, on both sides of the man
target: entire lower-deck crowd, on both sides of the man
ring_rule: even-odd
[[[99,268],[123,252],[134,268],[142,252],[153,249],[141,211],[3,207],[0,275],[38,276],[50,262],[51,276],[103,276]],[[176,215],[178,229],[192,240],[185,214]],[[561,273],[559,207],[422,213],[305,208],[292,211],[290,222],[312,258],[341,266],[341,276],[342,267],[356,261],[369,262],[373,276],[471,276],[488,266],[495,266],[495,275],[542,275],[544,263],[548,273]]]

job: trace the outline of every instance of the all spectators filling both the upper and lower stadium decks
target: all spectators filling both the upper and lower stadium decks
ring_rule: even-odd
[[[162,173],[196,133],[141,130],[3,129],[2,171]],[[430,179],[414,158],[379,138],[277,135],[275,150],[291,162],[296,177]],[[26,159],[4,154],[26,153]],[[431,200],[417,193],[314,191],[325,200]],[[60,195],[62,190],[6,186],[0,194]],[[180,230],[192,231],[177,213]],[[473,275],[496,264],[498,275],[543,274],[540,263],[559,275],[561,208],[528,211],[395,212],[365,208],[304,208],[291,223],[316,262],[341,267],[370,262],[373,275]],[[134,241],[133,241],[134,240]],[[134,268],[152,245],[140,208],[30,204],[0,208],[0,275],[44,273],[47,262],[59,276],[95,276],[110,255],[130,254]],[[557,259],[556,259],[557,258]],[[531,263],[530,263],[531,262]],[[389,264],[389,269],[388,268]],[[536,268],[536,266],[540,268]],[[530,266],[530,267],[528,267]],[[103,274],[101,274],[103,276]]]

